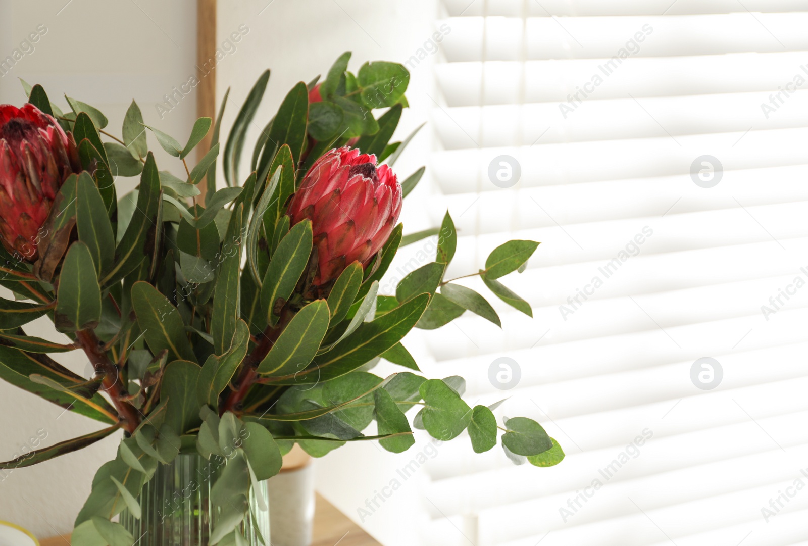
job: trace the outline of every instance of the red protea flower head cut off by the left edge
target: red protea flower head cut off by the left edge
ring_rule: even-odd
[[[0,241],[34,262],[57,191],[81,170],[73,135],[33,104],[0,105]]]

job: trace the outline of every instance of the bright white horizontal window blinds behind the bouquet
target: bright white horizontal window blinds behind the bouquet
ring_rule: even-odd
[[[423,544],[808,544],[808,2],[444,9],[429,169],[461,236],[448,276],[542,244],[503,279],[532,319],[496,300],[501,331],[466,313],[419,338],[431,375],[510,397],[498,418],[537,418],[567,456],[445,443]]]

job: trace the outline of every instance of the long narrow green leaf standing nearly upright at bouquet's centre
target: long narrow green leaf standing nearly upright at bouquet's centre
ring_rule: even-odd
[[[213,292],[213,316],[210,333],[213,336],[213,350],[217,355],[225,351],[236,331],[238,321],[238,294],[241,277],[239,266],[242,262],[242,213],[244,206],[239,206],[230,216],[230,223],[221,247],[221,267],[216,288]]]

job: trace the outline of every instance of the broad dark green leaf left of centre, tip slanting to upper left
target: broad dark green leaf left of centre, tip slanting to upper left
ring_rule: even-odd
[[[155,355],[165,349],[169,360],[196,361],[179,311],[157,288],[145,281],[134,283],[132,306],[137,315],[137,325]]]

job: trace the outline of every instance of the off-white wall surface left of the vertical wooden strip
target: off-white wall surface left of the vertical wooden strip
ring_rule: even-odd
[[[109,118],[109,132],[119,136],[132,99],[141,106],[146,124],[181,141],[190,133],[196,115],[193,94],[162,120],[155,105],[172,86],[187,82],[195,73],[196,2],[2,0],[0,58],[12,55],[40,24],[47,31],[32,44],[33,49],[23,45],[21,49],[30,53],[0,78],[0,103],[20,106],[26,102],[17,79],[23,78],[32,85],[41,83],[63,109],[67,107],[63,94],[99,107]],[[152,139],[149,144],[158,148]],[[161,169],[177,168],[162,150],[156,155]],[[136,183],[135,178],[117,181],[119,195]],[[47,321],[36,321],[27,326],[27,332],[58,339],[60,334],[47,325]],[[56,356],[74,372],[86,372],[82,353]],[[47,435],[42,447],[102,426],[71,412],[62,414],[57,405],[0,382],[0,460],[9,460],[23,446],[30,446],[29,439],[38,432],[40,438]],[[40,537],[70,531],[90,493],[95,470],[115,456],[118,440],[113,435],[80,452],[9,474],[0,481],[0,519],[27,527]]]

